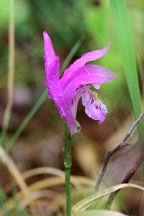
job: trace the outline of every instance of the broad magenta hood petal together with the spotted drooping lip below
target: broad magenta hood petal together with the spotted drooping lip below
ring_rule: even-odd
[[[79,98],[82,97],[83,105],[85,106],[86,114],[94,119],[99,120],[99,123],[103,122],[106,116],[106,107],[100,101],[99,104],[91,104],[91,95],[88,93],[86,84],[100,85],[105,82],[109,82],[116,77],[115,73],[112,73],[108,69],[97,65],[85,65],[78,71],[75,71],[71,79],[61,79],[63,86],[63,96],[66,99],[66,103],[71,107],[73,117],[76,118],[77,104]],[[89,100],[86,101],[86,98]]]

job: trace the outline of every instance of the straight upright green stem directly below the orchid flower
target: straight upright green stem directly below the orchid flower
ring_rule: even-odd
[[[71,185],[70,185],[70,171],[71,171],[71,134],[68,127],[65,125],[64,136],[64,166],[65,166],[65,188],[66,188],[66,215],[71,215]]]

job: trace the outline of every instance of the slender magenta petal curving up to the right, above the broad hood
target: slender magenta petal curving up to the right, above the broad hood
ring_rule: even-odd
[[[104,56],[107,51],[109,50],[110,43],[108,43],[108,46],[101,50],[94,50],[91,52],[87,52],[84,55],[81,56],[81,58],[77,59],[73,64],[68,67],[63,75],[64,79],[67,79],[73,75],[73,72],[76,71],[78,68],[83,67],[87,62],[95,61],[102,56]]]

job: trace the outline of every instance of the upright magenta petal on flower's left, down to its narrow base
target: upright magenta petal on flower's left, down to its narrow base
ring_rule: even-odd
[[[48,87],[48,96],[54,101],[60,115],[64,118],[68,125],[71,134],[77,132],[78,123],[72,115],[71,107],[67,104],[66,98],[63,95],[62,84],[59,80],[60,62],[49,35],[44,32],[44,59],[46,72],[46,85]]]

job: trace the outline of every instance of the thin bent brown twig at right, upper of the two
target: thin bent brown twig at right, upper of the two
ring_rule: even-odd
[[[105,159],[105,163],[104,163],[103,169],[102,169],[101,174],[100,174],[100,176],[99,176],[99,178],[97,180],[97,183],[96,183],[96,186],[95,186],[95,189],[94,189],[94,193],[97,192],[97,190],[98,190],[98,188],[100,186],[100,183],[102,181],[102,178],[104,177],[104,174],[106,172],[107,165],[109,163],[109,160],[110,160],[111,156],[114,155],[120,149],[122,149],[122,148],[124,148],[124,147],[126,147],[126,146],[129,145],[129,143],[127,143],[126,141],[128,140],[128,138],[132,134],[134,128],[137,126],[137,124],[139,123],[139,121],[142,119],[143,116],[144,116],[144,110],[142,111],[142,113],[140,114],[140,116],[138,117],[138,119],[135,122],[133,122],[131,128],[129,129],[129,131],[127,132],[127,134],[125,135],[125,137],[123,138],[123,140],[121,141],[121,143],[116,148],[114,148],[112,151],[108,152],[108,154],[106,156],[106,159]],[[132,171],[130,176],[132,176],[134,172]],[[130,176],[129,177],[127,176],[127,179],[130,178]]]

